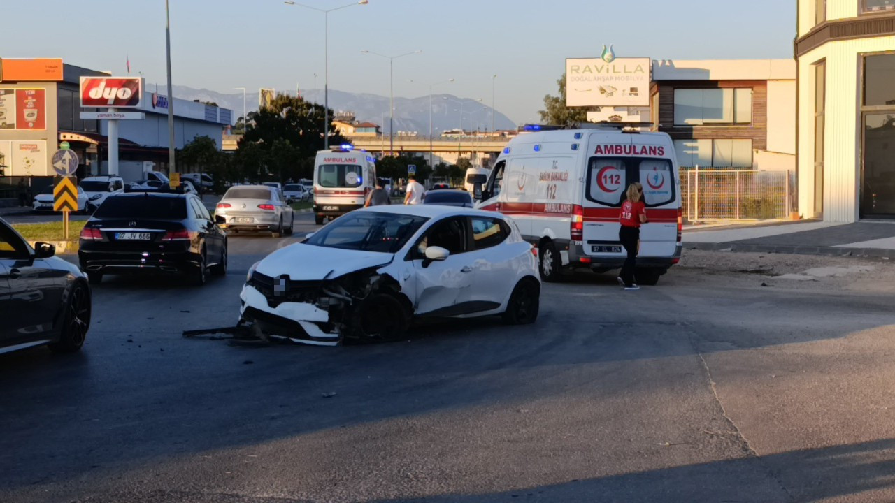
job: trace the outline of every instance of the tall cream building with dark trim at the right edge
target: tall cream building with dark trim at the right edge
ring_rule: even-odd
[[[798,210],[895,217],[895,0],[798,0]]]

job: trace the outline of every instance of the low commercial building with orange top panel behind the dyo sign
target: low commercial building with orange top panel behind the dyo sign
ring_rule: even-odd
[[[107,76],[61,59],[0,60],[0,190],[20,178],[38,187],[50,183],[55,175],[51,159],[61,141],[78,154],[81,164],[75,175],[108,173],[108,121],[82,120],[81,111],[98,109],[81,108],[80,98],[81,77]],[[122,174],[125,168],[131,173],[138,169],[137,175],[167,170],[168,103],[166,96],[144,90],[141,108],[129,111],[145,118],[119,121]],[[174,111],[176,148],[202,135],[221,147],[223,128],[232,120],[230,110],[175,98]]]

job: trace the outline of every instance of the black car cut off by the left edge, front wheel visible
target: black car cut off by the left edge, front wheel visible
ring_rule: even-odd
[[[49,345],[60,353],[81,349],[90,328],[90,286],[75,266],[36,249],[0,218],[0,353]]]

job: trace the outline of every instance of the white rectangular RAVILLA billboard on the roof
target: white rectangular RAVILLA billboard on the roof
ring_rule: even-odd
[[[648,57],[587,57],[566,60],[567,107],[649,107]]]

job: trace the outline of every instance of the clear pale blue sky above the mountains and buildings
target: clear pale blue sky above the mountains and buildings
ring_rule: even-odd
[[[351,0],[303,0],[330,9]],[[170,0],[175,85],[323,87],[323,14],[281,0]],[[164,0],[4,0],[0,57],[62,57],[95,70],[165,82]],[[329,14],[329,87],[388,96],[482,98],[535,121],[557,94],[566,57],[791,58],[796,0],[369,0]],[[15,21],[19,20],[19,21]],[[408,80],[413,80],[409,82]]]

